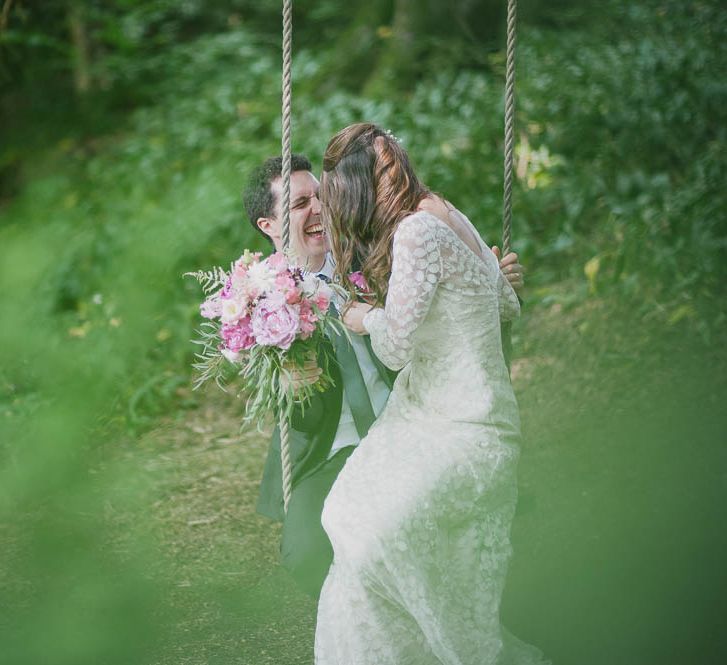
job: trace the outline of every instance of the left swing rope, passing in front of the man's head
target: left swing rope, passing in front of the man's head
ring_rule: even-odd
[[[293,53],[293,0],[283,0],[283,120],[282,120],[282,148],[283,148],[283,250],[290,255],[290,115],[292,106],[292,74],[291,62]],[[292,467],[290,464],[290,430],[288,419],[284,413],[280,414],[280,460],[283,467],[283,507],[288,512],[290,491],[292,487]]]

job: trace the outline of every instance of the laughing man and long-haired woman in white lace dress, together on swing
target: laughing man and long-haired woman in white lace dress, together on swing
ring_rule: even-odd
[[[244,194],[277,249],[280,174],[268,160]],[[258,501],[283,520],[283,565],[319,597],[315,662],[545,663],[499,617],[519,445],[500,322],[519,314],[517,257],[500,263],[369,123],[331,139],[320,184],[293,157],[290,206],[305,269],[351,294],[340,303],[351,339],[330,340],[335,385],[293,415],[288,512],[277,432]],[[296,380],[318,372],[312,362]]]

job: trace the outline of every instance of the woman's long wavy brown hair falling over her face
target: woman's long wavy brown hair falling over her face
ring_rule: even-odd
[[[321,217],[336,274],[352,294],[348,275],[361,270],[376,304],[384,303],[394,231],[428,194],[406,151],[377,125],[349,125],[329,141],[323,155]]]

